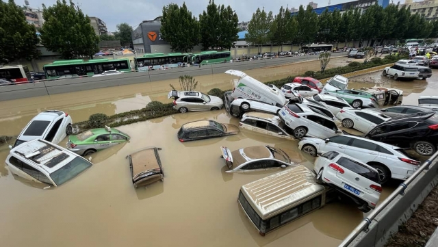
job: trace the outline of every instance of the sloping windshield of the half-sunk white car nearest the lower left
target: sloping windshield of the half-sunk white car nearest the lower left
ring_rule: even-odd
[[[55,172],[50,174],[50,177],[53,179],[56,185],[59,186],[66,181],[73,179],[90,166],[92,166],[92,164],[86,159],[83,159],[82,157],[75,157],[75,159],[68,162],[68,164],[65,166],[62,166],[62,168],[55,170]]]

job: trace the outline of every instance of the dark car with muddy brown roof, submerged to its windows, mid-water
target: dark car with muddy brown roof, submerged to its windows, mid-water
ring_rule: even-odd
[[[198,120],[183,124],[177,137],[180,142],[188,142],[235,135],[238,132],[239,128],[235,125],[222,124],[214,120]]]

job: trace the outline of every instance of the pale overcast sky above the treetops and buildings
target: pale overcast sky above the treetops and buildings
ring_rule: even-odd
[[[3,0],[7,1],[7,0]],[[28,0],[31,8],[42,8],[53,5],[56,0]],[[331,0],[331,5],[346,3],[352,0]],[[144,20],[151,20],[162,15],[164,5],[168,3],[183,4],[183,0],[159,1],[159,0],[74,0],[79,3],[80,8],[88,16],[96,16],[102,19],[107,25],[108,31],[116,31],[118,23],[128,23],[133,28]],[[207,8],[208,0],[185,0],[185,5],[196,17]],[[329,0],[313,0],[319,7],[328,5]],[[15,0],[18,5],[24,5],[25,0]],[[298,8],[300,4],[307,5],[309,0],[216,0],[217,5],[231,5],[237,12],[239,21],[250,21],[253,12],[257,8],[265,7],[265,10],[274,14],[279,12],[280,7]]]

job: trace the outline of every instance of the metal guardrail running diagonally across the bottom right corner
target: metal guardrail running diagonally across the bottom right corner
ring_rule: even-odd
[[[420,166],[420,168],[418,168],[418,170],[416,170],[411,177],[406,179],[404,183],[400,183],[396,190],[394,190],[394,192],[392,192],[380,205],[378,205],[378,207],[376,207],[376,209],[374,209],[368,217],[363,218],[362,222],[356,226],[356,228],[350,233],[350,235],[346,237],[346,239],[344,239],[341,244],[339,244],[339,247],[347,247],[362,231],[367,232],[368,226],[370,226],[372,220],[374,220],[374,218],[376,218],[376,216],[378,216],[378,214],[381,213],[381,211],[383,211],[383,209],[385,209],[385,207],[387,207],[387,205],[389,205],[389,203],[391,203],[398,195],[402,196],[404,194],[404,190],[409,187],[409,184],[412,183],[412,181],[414,181],[420,175],[420,173],[422,173],[424,170],[429,170],[430,164],[432,164],[432,161],[437,157],[438,152],[434,153],[428,160],[424,161],[422,166]]]

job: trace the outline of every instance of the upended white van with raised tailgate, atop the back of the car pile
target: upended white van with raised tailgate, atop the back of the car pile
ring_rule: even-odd
[[[283,107],[287,102],[285,94],[274,85],[267,86],[239,70],[227,70],[225,74],[240,77],[234,81],[233,99],[253,99],[277,107]]]

